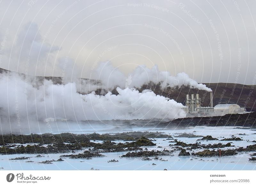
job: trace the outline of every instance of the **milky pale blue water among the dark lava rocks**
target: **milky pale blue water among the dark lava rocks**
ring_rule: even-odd
[[[174,133],[192,133],[193,131],[195,135],[212,135],[213,137],[217,137],[219,139],[223,139],[223,137],[231,137],[234,135],[236,137],[240,137],[244,139],[244,141],[231,141],[232,145],[237,147],[246,147],[247,145],[255,144],[253,142],[248,142],[246,140],[252,141],[256,140],[256,135],[252,135],[256,131],[252,131],[249,129],[233,129],[233,127],[195,127],[188,128],[182,130],[167,130],[167,129],[145,129],[143,131],[163,131],[166,134],[171,134],[175,136]],[[139,131],[138,128],[134,129],[134,131]],[[115,131],[114,131],[115,132]],[[81,133],[81,132],[80,132]],[[238,133],[246,133],[248,136],[238,136]],[[185,143],[195,143],[197,139],[200,138],[175,138]],[[164,148],[171,150],[172,146],[169,146],[170,143],[166,140],[166,138],[156,138],[156,146],[147,147],[148,150],[163,150]],[[96,141],[97,143],[101,143],[102,141]],[[115,142],[123,142],[123,141],[115,141]],[[213,143],[228,143],[229,141],[200,141],[203,144],[213,144]],[[162,146],[162,148],[157,148],[157,146]],[[144,149],[145,147],[143,147]],[[200,149],[195,150],[201,151]],[[192,151],[189,151],[190,153]],[[76,153],[83,153],[83,151],[76,151]],[[45,157],[35,158],[36,154],[17,154],[17,155],[0,155],[0,167],[4,169],[0,170],[90,170],[92,167],[94,169],[100,170],[163,170],[166,168],[167,170],[256,170],[256,163],[249,162],[248,159],[251,157],[249,153],[238,153],[235,156],[228,157],[214,157],[214,158],[202,158],[204,161],[199,161],[201,158],[196,156],[188,156],[188,157],[179,157],[179,151],[175,151],[173,153],[174,156],[160,156],[161,158],[168,161],[160,161],[154,160],[152,157],[150,161],[141,160],[141,158],[120,158],[123,154],[127,152],[112,152],[112,153],[102,153],[106,155],[105,157],[98,157],[92,159],[69,159],[62,158],[64,161],[61,162],[52,162],[53,164],[41,164],[38,162],[51,160],[51,159],[59,159],[60,155],[71,154],[71,153],[61,153],[61,154],[42,154]],[[74,153],[73,153],[74,154]],[[16,158],[20,156],[32,157],[26,160],[9,160],[11,158]],[[49,156],[49,157],[48,157]],[[159,158],[160,158],[159,157]],[[198,158],[198,159],[195,159]],[[110,162],[109,160],[116,159],[119,162]],[[190,160],[192,159],[192,160]],[[218,159],[218,160],[217,160]],[[213,161],[212,161],[213,160]],[[26,161],[34,161],[32,163],[28,163]],[[80,162],[83,161],[83,162]],[[152,165],[155,163],[156,165]]]

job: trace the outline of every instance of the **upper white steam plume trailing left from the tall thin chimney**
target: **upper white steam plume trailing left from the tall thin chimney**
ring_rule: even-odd
[[[112,90],[116,86],[121,88],[141,88],[144,84],[153,82],[156,84],[161,83],[162,88],[188,85],[191,88],[212,91],[206,85],[197,83],[189,78],[188,74],[179,73],[176,76],[172,76],[170,72],[159,71],[157,65],[151,69],[144,65],[138,66],[127,77],[117,68],[114,68],[110,62],[101,62],[94,72],[94,79],[97,78],[102,82],[101,88],[107,90]]]

